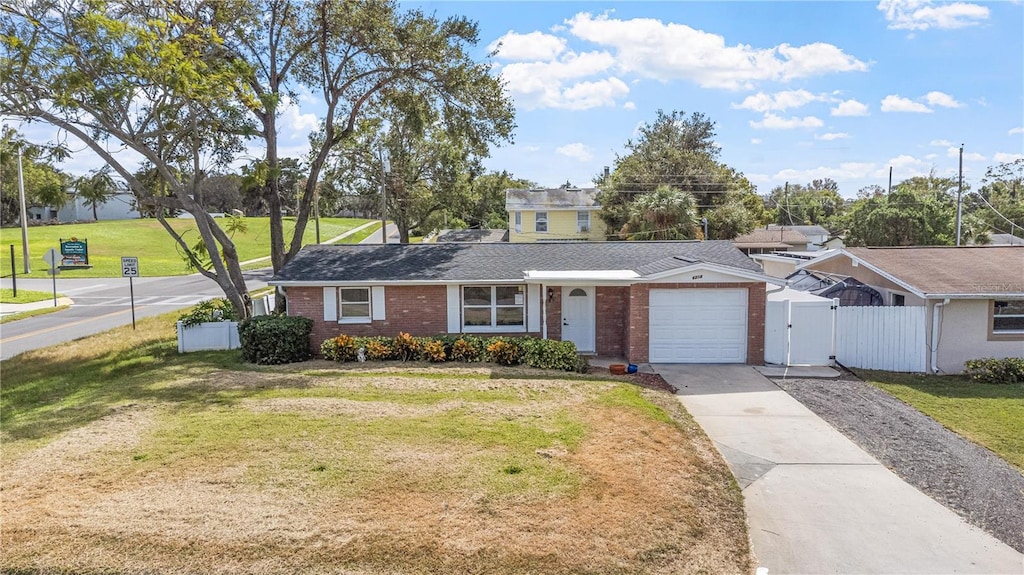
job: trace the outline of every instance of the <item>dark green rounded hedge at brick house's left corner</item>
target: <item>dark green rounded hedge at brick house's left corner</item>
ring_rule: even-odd
[[[260,315],[239,323],[242,357],[261,365],[305,361],[313,320],[297,315]]]

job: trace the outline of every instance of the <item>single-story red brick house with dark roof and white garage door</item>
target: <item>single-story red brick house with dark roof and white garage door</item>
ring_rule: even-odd
[[[729,241],[307,246],[268,283],[339,334],[531,335],[636,362],[764,362],[767,277]]]

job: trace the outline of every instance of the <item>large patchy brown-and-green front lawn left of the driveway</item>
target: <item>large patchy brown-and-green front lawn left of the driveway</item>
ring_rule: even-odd
[[[3,363],[0,571],[750,572],[668,393],[487,364],[280,367],[146,318]]]

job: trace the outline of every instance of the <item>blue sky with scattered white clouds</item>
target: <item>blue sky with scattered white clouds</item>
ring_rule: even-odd
[[[717,123],[721,160],[767,193],[830,177],[853,196],[934,170],[977,187],[1024,158],[1024,4],[876,2],[420,2],[479,23],[478,59],[515,101],[515,143],[486,166],[588,185],[658,108]],[[300,96],[282,156],[307,150],[322,109]],[[30,139],[52,130],[23,129]],[[246,159],[261,154],[254,145]],[[82,151],[63,165],[99,165]]]

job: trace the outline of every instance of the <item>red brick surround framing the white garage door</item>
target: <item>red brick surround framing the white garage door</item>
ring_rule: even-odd
[[[745,288],[746,299],[746,363],[763,365],[765,362],[765,284],[764,283],[636,283],[630,286],[630,312],[628,317],[629,342],[627,354],[633,363],[647,361],[649,352],[648,312],[650,290],[701,290]]]

